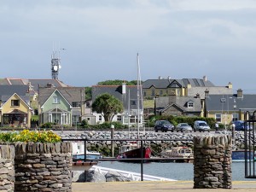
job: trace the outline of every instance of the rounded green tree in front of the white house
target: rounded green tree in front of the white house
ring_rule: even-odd
[[[105,121],[111,122],[115,114],[123,112],[124,107],[119,99],[104,93],[96,97],[96,100],[92,103],[92,110],[96,113],[102,113]]]

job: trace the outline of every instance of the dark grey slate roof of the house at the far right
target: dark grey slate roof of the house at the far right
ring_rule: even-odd
[[[221,102],[221,100],[225,102]],[[236,111],[254,111],[256,110],[256,95],[243,94],[241,98],[237,97],[236,94],[206,97],[207,111],[232,111],[234,105],[236,105]]]

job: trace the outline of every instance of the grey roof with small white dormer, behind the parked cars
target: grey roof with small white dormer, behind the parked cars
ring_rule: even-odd
[[[194,102],[194,108],[188,108],[188,102]],[[174,103],[170,103],[168,96],[162,96],[157,98],[156,108],[157,110],[165,110],[165,108],[168,108],[172,104],[175,104],[185,112],[201,112],[201,99],[193,96],[176,96]]]

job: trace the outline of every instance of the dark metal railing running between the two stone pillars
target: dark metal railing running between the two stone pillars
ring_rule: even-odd
[[[113,146],[113,142],[137,142],[140,143],[139,146],[141,148],[141,157],[140,158],[116,158],[116,157],[109,157],[109,158],[101,158],[101,159],[87,159],[86,158],[86,148],[88,142],[111,142]],[[116,160],[116,161],[137,161],[141,164],[141,181],[143,181],[143,163],[150,162],[150,161],[168,161],[168,160],[182,160],[182,158],[143,158],[143,147],[146,147],[146,142],[172,142],[172,141],[193,141],[192,139],[88,139],[88,138],[79,138],[79,139],[62,139],[62,142],[84,142],[84,159],[80,159],[85,161],[108,161],[108,160]],[[112,148],[113,150],[113,148]],[[193,158],[186,158],[186,160],[193,160]],[[84,176],[84,180],[86,180]]]

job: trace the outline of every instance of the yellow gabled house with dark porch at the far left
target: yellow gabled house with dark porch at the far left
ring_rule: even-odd
[[[32,108],[16,93],[0,107],[1,126],[31,127]]]

